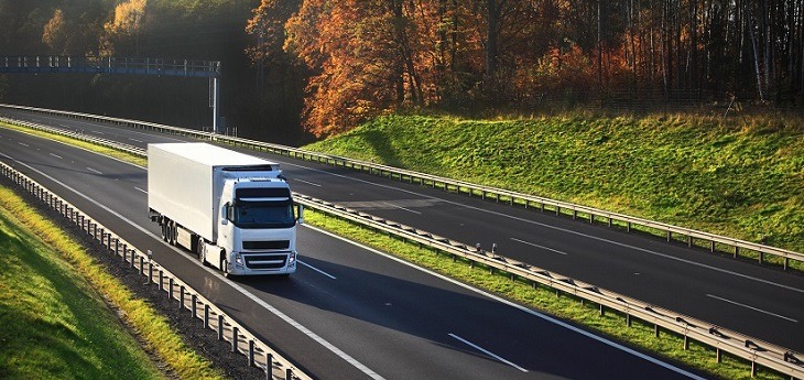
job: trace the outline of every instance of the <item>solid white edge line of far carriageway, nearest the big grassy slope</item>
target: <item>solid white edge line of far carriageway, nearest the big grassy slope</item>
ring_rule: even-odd
[[[369,184],[369,185],[374,185],[374,186],[379,186],[379,187],[383,187],[383,188],[388,188],[388,189],[393,189],[393,191],[398,191],[398,192],[402,192],[402,193],[406,193],[406,194],[412,194],[412,195],[416,195],[416,196],[420,196],[420,197],[423,197],[423,198],[436,199],[436,200],[441,200],[441,202],[444,202],[444,203],[447,203],[447,204],[450,204],[450,205],[454,205],[454,206],[464,207],[464,208],[468,208],[468,209],[474,209],[476,211],[491,214],[491,215],[495,215],[495,216],[499,216],[499,217],[503,217],[503,218],[509,218],[509,219],[513,219],[513,220],[517,220],[517,221],[522,221],[522,222],[525,222],[525,224],[536,225],[536,226],[540,226],[540,227],[550,228],[550,229],[554,229],[554,230],[557,230],[557,231],[567,232],[567,234],[580,236],[580,237],[584,237],[584,238],[588,238],[588,239],[593,239],[593,240],[597,240],[597,241],[601,241],[601,242],[608,242],[608,243],[611,243],[611,245],[615,245],[615,246],[618,246],[618,247],[623,247],[623,248],[629,248],[629,249],[638,250],[640,252],[644,252],[644,253],[658,256],[658,257],[665,258],[665,259],[669,259],[669,260],[675,260],[675,261],[683,262],[683,263],[687,263],[687,264],[691,264],[691,265],[696,265],[696,267],[709,269],[709,270],[713,270],[713,271],[716,271],[716,272],[720,272],[720,273],[725,273],[725,274],[730,274],[730,275],[738,276],[738,278],[741,278],[741,279],[751,280],[751,281],[756,281],[756,282],[763,283],[763,284],[768,284],[768,285],[772,285],[772,286],[778,286],[778,287],[781,287],[781,289],[786,289],[789,291],[793,291],[793,292],[797,292],[797,293],[804,293],[804,289],[797,289],[797,287],[793,287],[793,286],[780,284],[778,282],[773,282],[773,281],[769,281],[769,280],[764,280],[764,279],[754,278],[754,276],[751,276],[751,275],[748,275],[748,274],[742,274],[742,273],[738,273],[738,272],[735,272],[735,271],[729,271],[729,270],[721,269],[721,268],[717,268],[717,267],[707,265],[707,264],[699,263],[699,262],[692,261],[692,260],[676,258],[676,257],[673,257],[671,254],[665,254],[665,253],[652,251],[650,249],[640,248],[640,247],[635,247],[635,246],[631,246],[631,245],[626,245],[626,243],[618,242],[618,241],[613,241],[613,240],[609,240],[609,239],[599,238],[599,237],[596,237],[596,236],[591,236],[591,235],[587,235],[587,234],[574,231],[574,230],[566,229],[566,228],[555,227],[555,226],[551,226],[551,225],[547,225],[547,224],[543,224],[543,222],[539,222],[539,221],[534,221],[534,220],[529,220],[529,219],[524,219],[524,218],[520,218],[520,217],[515,217],[515,216],[512,216],[512,215],[502,214],[502,213],[498,213],[498,211],[492,211],[492,210],[488,210],[488,209],[482,209],[482,208],[475,207],[475,206],[468,206],[468,205],[460,204],[460,203],[457,203],[457,202],[447,200],[447,199],[439,198],[439,197],[435,197],[435,196],[431,196],[431,195],[424,195],[424,194],[420,194],[420,193],[412,192],[412,191],[409,191],[409,189],[403,189],[403,188],[399,188],[399,187],[383,185],[383,184],[379,184],[379,183],[374,183],[374,182],[370,182],[370,181],[366,181],[366,180],[354,178],[354,177],[349,177],[349,176],[346,176],[346,175],[343,175],[343,174],[329,173],[329,172],[325,172],[325,171],[317,170],[317,169],[313,169],[313,167],[307,167],[307,166],[302,166],[302,165],[298,165],[298,164],[293,164],[293,163],[290,163],[290,162],[284,162],[284,165],[287,165],[287,166],[296,166],[296,167],[305,169],[305,170],[313,171],[313,172],[316,172],[316,173],[329,174],[329,175],[333,175],[333,176],[336,176],[336,177],[340,177],[340,178],[345,178],[345,180],[350,180],[350,181],[357,181],[357,182],[366,183],[366,184]]]

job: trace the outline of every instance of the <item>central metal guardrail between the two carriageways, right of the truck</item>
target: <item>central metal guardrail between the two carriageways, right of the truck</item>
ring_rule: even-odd
[[[427,231],[387,220],[347,207],[316,199],[294,193],[294,200],[304,205],[361,226],[395,236],[405,241],[416,242],[436,251],[450,256],[453,260],[460,257],[470,262],[486,265],[492,273],[496,270],[508,273],[511,280],[522,279],[536,285],[544,285],[584,301],[599,305],[600,315],[606,310],[617,311],[626,315],[626,323],[631,326],[632,319],[638,318],[653,324],[654,334],[660,336],[661,329],[678,334],[684,337],[684,349],[689,347],[689,340],[707,345],[716,350],[716,359],[721,360],[722,352],[751,362],[751,376],[757,374],[758,367],[772,369],[793,378],[804,377],[804,360],[800,355],[787,348],[739,334],[719,326],[711,325],[694,317],[682,315],[622,294],[600,289],[589,283],[564,276],[524,262],[506,258],[495,252],[488,252],[469,245],[439,237]],[[583,302],[583,301],[582,301]]]

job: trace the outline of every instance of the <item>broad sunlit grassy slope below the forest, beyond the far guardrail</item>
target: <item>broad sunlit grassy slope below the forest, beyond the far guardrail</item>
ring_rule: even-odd
[[[304,148],[804,251],[803,121],[388,116]]]

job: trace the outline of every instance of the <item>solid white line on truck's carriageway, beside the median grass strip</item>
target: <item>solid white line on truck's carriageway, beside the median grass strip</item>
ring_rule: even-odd
[[[458,280],[455,280],[455,279],[450,279],[450,278],[448,278],[448,276],[446,276],[446,275],[444,275],[444,274],[441,274],[441,273],[436,273],[436,272],[434,272],[434,271],[431,271],[431,270],[428,270],[428,269],[425,269],[425,268],[416,267],[415,264],[413,264],[413,263],[411,263],[411,262],[408,262],[408,261],[404,261],[404,260],[402,260],[402,259],[400,259],[400,258],[398,258],[398,257],[394,257],[394,256],[388,254],[388,253],[385,253],[385,252],[381,252],[381,251],[379,251],[379,250],[376,250],[376,249],[373,249],[373,248],[371,248],[371,247],[368,247],[368,246],[363,246],[363,245],[361,245],[361,243],[359,243],[359,242],[355,242],[355,241],[351,241],[351,240],[349,240],[349,239],[347,239],[347,238],[344,238],[344,237],[337,236],[337,235],[335,235],[335,234],[332,234],[332,232],[329,232],[329,231],[325,231],[325,230],[323,230],[323,229],[319,229],[319,228],[316,228],[316,227],[312,227],[312,226],[309,226],[309,225],[302,225],[302,226],[304,226],[304,227],[307,227],[307,228],[309,228],[309,229],[312,229],[312,230],[318,231],[318,232],[320,232],[320,234],[324,234],[324,235],[328,235],[328,236],[330,236],[330,237],[333,237],[333,238],[335,238],[335,239],[338,239],[338,240],[345,241],[345,242],[347,242],[347,243],[350,243],[350,245],[352,245],[352,246],[355,246],[355,247],[359,247],[359,248],[361,248],[361,249],[365,249],[365,250],[367,250],[367,251],[369,251],[369,252],[374,252],[374,253],[377,253],[377,254],[379,254],[379,256],[382,256],[382,257],[384,257],[384,258],[387,258],[387,259],[389,259],[389,260],[393,260],[393,261],[396,261],[396,262],[399,262],[399,263],[401,263],[401,264],[408,265],[408,267],[410,267],[410,268],[413,268],[413,269],[415,269],[415,270],[417,270],[417,271],[421,271],[421,272],[427,273],[427,274],[430,274],[430,275],[436,276],[436,278],[438,278],[438,279],[442,279],[442,280],[444,280],[444,281],[450,282],[450,283],[453,283],[453,284],[455,284],[455,285],[457,285],[457,286],[464,287],[464,289],[466,289],[466,290],[468,290],[468,291],[475,292],[475,293],[477,293],[477,294],[480,294],[480,295],[482,295],[482,296],[486,296],[486,297],[488,297],[488,298],[491,298],[491,300],[493,300],[493,301],[497,301],[497,302],[499,302],[499,303],[502,303],[502,304],[504,304],[504,305],[511,306],[511,307],[513,307],[513,308],[518,308],[518,310],[520,310],[520,311],[522,311],[522,312],[524,312],[524,313],[528,313],[528,314],[530,314],[530,315],[533,315],[533,316],[535,316],[535,317],[537,317],[537,318],[541,318],[541,319],[543,319],[543,321],[546,321],[546,322],[548,322],[548,323],[552,323],[552,324],[554,324],[554,325],[558,325],[558,326],[561,326],[561,327],[564,327],[564,328],[566,328],[566,329],[568,329],[568,330],[571,330],[571,332],[573,332],[573,333],[577,333],[577,334],[580,334],[580,335],[583,335],[583,336],[585,336],[585,337],[587,337],[587,338],[589,338],[589,339],[593,339],[593,340],[599,341],[599,343],[601,343],[601,344],[604,344],[604,345],[607,345],[607,346],[609,346],[609,347],[611,347],[611,348],[615,348],[615,349],[619,349],[619,350],[621,350],[621,351],[624,351],[624,352],[627,352],[627,354],[633,355],[633,356],[635,356],[635,357],[638,357],[638,358],[640,358],[640,359],[643,359],[643,360],[647,360],[647,361],[649,361],[649,362],[652,362],[652,363],[654,363],[654,365],[656,365],[656,366],[659,366],[659,367],[665,368],[665,369],[667,369],[667,370],[671,370],[671,371],[673,371],[673,372],[676,372],[676,373],[678,373],[678,374],[681,374],[681,376],[685,376],[685,377],[687,377],[687,378],[691,378],[691,379],[695,379],[695,380],[706,380],[705,378],[702,378],[702,377],[699,377],[699,376],[697,376],[697,374],[695,374],[695,373],[692,373],[692,372],[689,372],[689,371],[686,371],[686,370],[684,370],[684,369],[681,369],[681,368],[678,368],[678,367],[675,367],[675,366],[673,366],[673,365],[671,365],[671,363],[669,363],[669,362],[665,362],[665,361],[662,361],[662,360],[660,360],[660,359],[656,359],[656,358],[654,358],[654,357],[648,356],[648,355],[645,355],[645,354],[642,354],[642,352],[640,352],[640,351],[637,351],[637,350],[634,350],[634,349],[632,349],[632,348],[626,347],[626,346],[623,346],[623,345],[620,345],[620,344],[618,344],[618,343],[616,343],[616,341],[609,340],[609,339],[607,339],[607,338],[604,338],[604,337],[601,337],[601,336],[597,336],[597,335],[595,335],[595,334],[593,334],[593,333],[589,333],[589,332],[587,332],[587,330],[585,330],[585,329],[582,329],[582,328],[579,328],[579,327],[573,326],[573,325],[571,325],[571,324],[567,324],[567,323],[565,323],[565,322],[563,322],[563,321],[556,319],[556,318],[554,318],[554,317],[552,317],[552,316],[548,316],[548,315],[546,315],[546,314],[542,314],[542,313],[540,313],[540,312],[537,312],[537,311],[534,311],[534,310],[531,310],[531,308],[529,308],[529,307],[522,306],[522,305],[520,305],[520,304],[517,304],[517,303],[514,303],[514,302],[508,301],[508,300],[506,300],[506,298],[503,298],[503,297],[500,297],[500,296],[498,296],[498,295],[495,295],[495,294],[488,293],[488,292],[486,292],[486,291],[482,291],[482,290],[479,290],[479,289],[477,289],[477,287],[472,287],[472,286],[470,286],[470,285],[467,285],[467,284],[465,284],[465,283],[463,283],[463,282],[460,282],[460,281],[458,281]]]

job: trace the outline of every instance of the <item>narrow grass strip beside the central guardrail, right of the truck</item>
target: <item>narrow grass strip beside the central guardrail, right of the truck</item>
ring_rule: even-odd
[[[706,371],[711,376],[724,379],[751,379],[751,365],[747,361],[724,354],[722,361],[716,361],[715,350],[710,347],[692,343],[689,349],[684,349],[682,336],[660,332],[655,338],[653,325],[633,319],[631,327],[626,324],[626,316],[613,311],[606,311],[600,316],[598,305],[569,295],[557,296],[555,290],[537,286],[522,280],[512,281],[510,274],[496,271],[491,274],[488,268],[476,264],[474,268],[463,259],[453,260],[446,254],[420,248],[414,243],[403,242],[382,234],[377,234],[366,227],[327,216],[307,208],[305,222],[316,226],[347,239],[358,241],[378,250],[389,252],[409,262],[446,274],[464,283],[484,289],[520,304],[558,316],[572,323],[596,330],[616,340],[626,341],[634,347],[656,352],[671,361],[682,362],[692,368]],[[761,369],[756,379],[784,379],[784,377]]]

